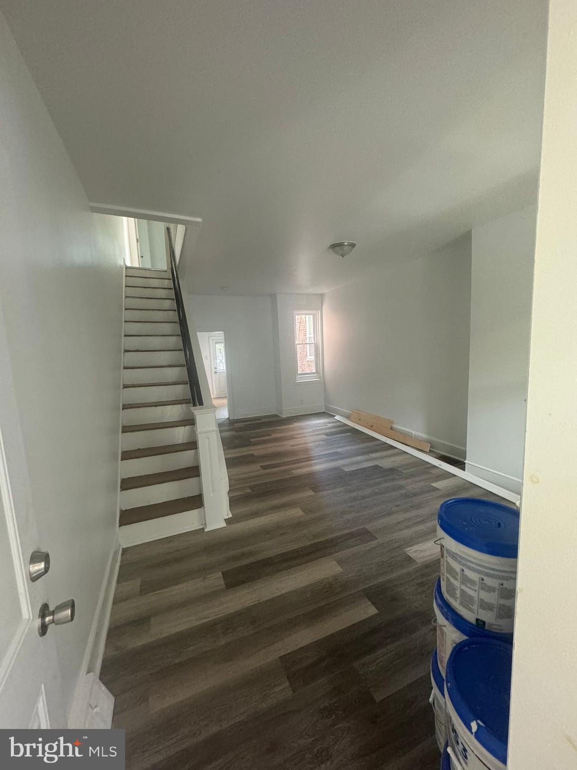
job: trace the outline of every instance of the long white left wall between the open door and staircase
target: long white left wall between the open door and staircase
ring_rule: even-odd
[[[122,219],[88,209],[2,14],[0,82],[0,303],[43,580],[76,600],[56,645],[69,708],[117,539]]]

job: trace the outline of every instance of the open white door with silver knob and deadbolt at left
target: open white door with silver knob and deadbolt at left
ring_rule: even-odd
[[[32,551],[48,551],[48,544],[38,540],[0,312],[0,728],[67,726],[55,648],[57,629],[38,635],[38,611],[48,601],[48,576],[31,581]]]

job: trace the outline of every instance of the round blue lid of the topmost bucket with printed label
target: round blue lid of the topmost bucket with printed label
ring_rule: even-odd
[[[437,521],[449,537],[474,551],[517,557],[519,512],[509,505],[478,497],[453,497],[441,504]]]

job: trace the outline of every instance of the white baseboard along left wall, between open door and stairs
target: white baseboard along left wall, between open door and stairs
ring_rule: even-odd
[[[72,708],[68,715],[68,726],[70,728],[88,727],[88,725],[83,723],[87,708],[86,699],[90,695],[89,688],[86,686],[86,677],[88,674],[93,673],[98,678],[100,667],[102,666],[121,554],[122,548],[118,544],[114,544],[108,557],[100,594],[98,594],[94,620],[92,621],[92,628],[88,636],[84,658],[82,658],[82,666],[78,675]]]

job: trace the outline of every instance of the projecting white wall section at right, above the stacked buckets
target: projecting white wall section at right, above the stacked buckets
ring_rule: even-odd
[[[519,493],[536,207],[472,230],[467,470]]]

